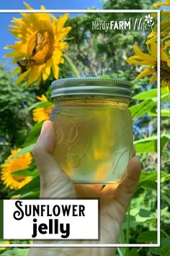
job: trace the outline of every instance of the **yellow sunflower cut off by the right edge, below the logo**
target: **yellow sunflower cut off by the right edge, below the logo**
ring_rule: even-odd
[[[147,69],[144,69],[137,78],[146,77],[147,75],[152,75],[150,79],[150,84],[157,80],[157,45],[152,41],[151,44],[147,44],[148,53],[145,54],[137,45],[133,45],[133,50],[135,56],[131,56],[127,59],[128,63],[135,65],[148,66]],[[161,48],[161,86],[164,88],[168,86],[170,90],[170,63],[169,56],[164,52],[164,49]]]

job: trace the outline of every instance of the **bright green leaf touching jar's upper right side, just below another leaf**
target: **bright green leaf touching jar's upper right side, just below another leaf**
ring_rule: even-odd
[[[129,110],[132,114],[133,119],[135,119],[140,116],[143,116],[143,114],[148,113],[151,110],[151,108],[153,108],[153,106],[155,106],[155,105],[156,105],[156,103],[154,103],[153,101],[146,100],[146,101],[138,103],[134,106],[131,106],[129,108]]]

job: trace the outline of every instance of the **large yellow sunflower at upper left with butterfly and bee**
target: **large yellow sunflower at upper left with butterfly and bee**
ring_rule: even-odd
[[[28,4],[24,5],[32,9]],[[41,9],[45,7],[41,6]],[[58,79],[58,65],[63,63],[63,51],[68,48],[63,38],[71,30],[71,27],[64,27],[67,20],[68,14],[57,19],[46,13],[24,13],[22,18],[13,18],[14,25],[9,25],[12,28],[9,32],[19,40],[13,46],[5,47],[13,50],[5,57],[13,57],[13,63],[18,64],[13,72],[20,73],[17,83],[27,77],[26,87],[35,81],[40,85],[41,80],[47,80],[51,69]]]

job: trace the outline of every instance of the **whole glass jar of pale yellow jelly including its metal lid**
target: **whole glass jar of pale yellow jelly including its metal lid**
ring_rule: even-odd
[[[130,93],[130,82],[107,78],[52,83],[53,155],[73,182],[109,184],[124,176],[133,155]]]

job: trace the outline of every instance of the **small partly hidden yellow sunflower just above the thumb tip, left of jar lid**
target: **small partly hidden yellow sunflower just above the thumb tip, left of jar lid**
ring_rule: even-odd
[[[48,99],[45,97],[45,95],[41,95],[40,97],[37,96],[37,99],[39,101],[48,101]],[[32,115],[33,115],[33,119],[34,121],[45,121],[45,120],[48,120],[49,117],[50,117],[50,111],[51,109],[53,108],[54,105],[51,105],[51,106],[48,106],[48,107],[45,107],[45,108],[35,108],[33,111],[32,111]]]

